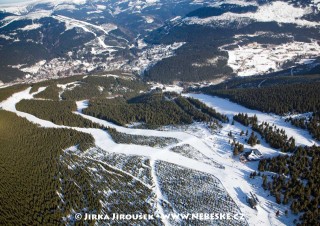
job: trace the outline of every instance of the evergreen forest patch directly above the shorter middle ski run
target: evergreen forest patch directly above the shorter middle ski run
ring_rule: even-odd
[[[143,122],[148,127],[192,122],[189,115],[174,102],[165,100],[162,94],[151,95],[149,102],[130,103],[123,98],[95,99],[83,112],[122,126],[133,122]]]

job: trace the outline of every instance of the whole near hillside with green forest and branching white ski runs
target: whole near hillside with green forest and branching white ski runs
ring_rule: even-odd
[[[283,78],[279,77],[281,80]],[[35,83],[29,88],[0,89],[3,100],[0,125],[2,133],[6,134],[1,143],[8,150],[22,147],[22,152],[15,152],[12,158],[8,151],[1,153],[2,177],[21,177],[18,168],[18,171],[8,168],[14,167],[15,158],[20,159],[21,166],[27,164],[25,167],[41,162],[24,179],[25,186],[30,187],[23,187],[20,192],[28,192],[28,195],[19,201],[19,207],[16,196],[2,196],[6,198],[1,199],[5,213],[1,222],[8,223],[7,217],[12,211],[30,202],[35,208],[28,209],[28,217],[12,220],[12,224],[51,222],[73,225],[79,223],[75,219],[79,213],[83,216],[86,213],[111,215],[118,211],[159,216],[152,221],[141,219],[139,224],[142,225],[211,225],[214,221],[164,216],[212,212],[244,217],[234,219],[232,225],[308,225],[316,221],[318,212],[314,207],[319,194],[314,175],[318,168],[308,172],[304,169],[316,164],[319,142],[306,129],[291,125],[287,117],[250,110],[226,99],[204,94],[162,92],[138,80],[130,80],[130,88],[125,88],[125,81],[128,81],[127,75],[118,73],[112,76],[74,76]],[[239,85],[237,80],[229,83]],[[318,90],[317,83],[312,85]],[[310,87],[305,90],[304,86],[308,84],[301,86],[299,92],[313,92]],[[267,85],[266,88],[276,90],[277,85]],[[86,96],[83,96],[82,89],[86,90]],[[242,88],[239,92],[250,89]],[[87,99],[80,100],[83,97]],[[257,107],[263,106],[258,103]],[[318,109],[316,105],[315,108]],[[307,110],[301,108],[300,113]],[[173,117],[175,114],[177,117]],[[17,130],[15,127],[20,128],[19,134],[13,132]],[[69,138],[63,142],[67,143],[53,144],[65,134]],[[15,136],[19,139],[14,139]],[[34,137],[32,142],[30,136]],[[42,147],[50,151],[50,155],[41,152]],[[264,160],[241,163],[239,156],[252,148],[259,150]],[[299,151],[296,152],[296,148]],[[30,156],[28,163],[20,158],[25,153]],[[310,161],[304,162],[305,167],[297,168],[295,173],[289,174],[284,166],[274,167],[274,161],[294,164],[306,155],[310,156]],[[54,158],[55,161],[48,165],[45,158]],[[41,167],[47,167],[50,174],[43,174]],[[279,188],[277,177],[271,172],[278,174],[281,183],[287,185]],[[283,178],[282,172],[288,177]],[[295,177],[308,183],[300,184],[300,190],[290,190],[292,183],[296,183]],[[40,183],[40,179],[45,181],[41,183],[47,184],[46,190],[32,188]],[[6,181],[0,189],[3,195],[7,189],[20,183],[11,179]],[[88,186],[95,189],[84,192]],[[302,190],[312,195],[296,199]],[[28,198],[38,197],[41,192],[46,192],[46,202]],[[258,197],[256,209],[246,201],[250,192]],[[298,205],[301,200],[304,204]],[[88,221],[82,219],[80,222]],[[112,224],[126,222],[117,220]],[[230,225],[230,221],[219,220],[219,224]]]

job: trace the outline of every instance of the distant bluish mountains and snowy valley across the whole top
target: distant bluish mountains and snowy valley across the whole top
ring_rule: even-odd
[[[319,8],[318,0],[1,5],[0,80],[112,70],[163,83],[288,69],[318,73]]]

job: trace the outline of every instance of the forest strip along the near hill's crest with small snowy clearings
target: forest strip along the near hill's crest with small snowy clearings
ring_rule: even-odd
[[[38,91],[40,87],[47,87],[35,97],[50,100],[84,100],[114,96],[130,98],[138,95],[141,91],[147,91],[149,88],[139,79],[123,75],[120,72],[116,73],[114,75],[78,75],[44,81],[33,84],[30,93]]]

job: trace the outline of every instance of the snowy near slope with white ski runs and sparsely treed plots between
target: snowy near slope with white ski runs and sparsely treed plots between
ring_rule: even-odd
[[[217,133],[211,133],[206,126],[201,123],[194,123],[185,127],[165,127],[160,130],[132,129],[116,126],[113,123],[87,116],[82,110],[87,107],[87,101],[77,102],[80,115],[92,122],[99,123],[106,127],[111,127],[124,134],[141,135],[145,137],[175,138],[178,143],[162,148],[150,147],[147,145],[118,144],[111,136],[96,128],[80,128],[56,125],[50,121],[39,119],[31,114],[18,111],[15,105],[23,99],[34,99],[34,95],[42,92],[46,88],[40,88],[36,93],[30,94],[30,88],[14,94],[0,106],[7,111],[14,112],[18,116],[26,118],[32,123],[39,124],[45,128],[72,128],[77,131],[91,134],[95,139],[95,148],[86,152],[78,152],[77,148],[70,148],[66,153],[77,156],[79,161],[73,161],[72,169],[75,165],[83,167],[90,172],[93,183],[98,183],[100,188],[104,188],[101,197],[102,211],[108,213],[108,208],[116,204],[116,200],[108,199],[112,189],[118,183],[124,183],[119,177],[112,184],[103,183],[107,176],[104,167],[106,164],[112,170],[121,172],[129,176],[131,197],[139,198],[138,194],[148,193],[147,200],[139,202],[152,206],[152,214],[180,214],[189,212],[206,213],[211,212],[232,212],[240,213],[245,217],[242,221],[233,221],[235,225],[290,225],[296,218],[295,215],[285,215],[287,205],[276,204],[274,197],[261,187],[261,178],[248,179],[249,174],[257,168],[257,162],[243,164],[231,156],[228,133],[232,131],[236,139],[241,140],[240,131],[247,129],[235,123],[231,125],[225,123]],[[249,115],[256,114],[260,121],[272,122],[294,136],[298,144],[313,145],[309,134],[302,129],[293,128],[283,118],[268,115],[259,111],[253,111],[228,100],[210,97],[207,95],[188,94],[204,103],[212,106],[219,112],[227,114],[231,119],[239,112],[246,112]],[[246,149],[251,149],[246,145]],[[264,157],[278,155],[279,152],[270,148],[268,144],[262,142],[256,148],[260,150]],[[92,172],[92,173],[91,173]],[[108,172],[108,171],[107,171]],[[109,172],[110,173],[110,172]],[[181,176],[183,175],[183,176]],[[127,179],[126,179],[127,180]],[[176,181],[179,180],[179,183]],[[187,181],[183,182],[183,181]],[[139,183],[136,193],[132,185]],[[61,194],[62,191],[59,191]],[[246,195],[250,192],[256,194],[259,200],[257,210],[252,209],[246,201]],[[192,200],[186,202],[182,200]],[[205,203],[204,204],[204,200]],[[133,203],[137,200],[131,200]],[[151,208],[151,207],[149,207]],[[276,217],[275,212],[280,211],[280,217]],[[162,217],[161,222],[179,225],[185,223],[183,219],[170,219]],[[214,222],[207,222],[213,224]],[[219,222],[222,225],[229,225],[230,222]],[[161,225],[157,223],[156,225]]]

